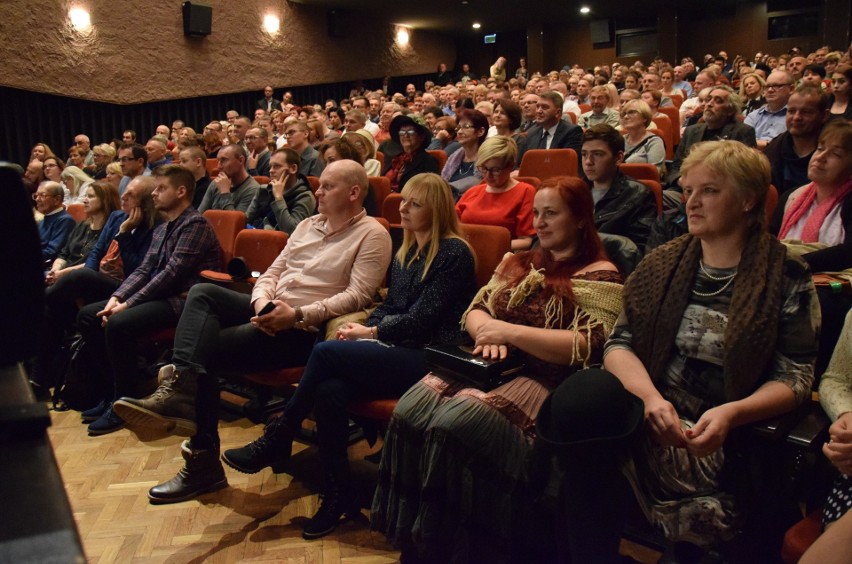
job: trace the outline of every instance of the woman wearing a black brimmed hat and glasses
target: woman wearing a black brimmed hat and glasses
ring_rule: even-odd
[[[426,152],[432,133],[419,120],[419,117],[396,116],[391,122],[391,139],[402,147],[402,152],[387,159],[382,175],[390,179],[393,192],[401,192],[405,183],[417,174],[441,172],[438,160]]]

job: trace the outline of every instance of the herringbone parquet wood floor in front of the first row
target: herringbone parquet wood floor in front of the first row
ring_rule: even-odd
[[[318,504],[321,469],[316,449],[296,443],[296,476],[266,469],[245,475],[225,469],[229,487],[172,505],[150,505],[147,492],[183,465],[182,439],[142,441],[129,430],[89,437],[76,411],[51,412],[50,440],[88,562],[384,564],[399,561],[385,537],[369,530],[368,512],[331,535],[302,539],[300,523]],[[222,421],[222,448],[257,438],[260,427],[246,419]],[[149,438],[150,439],[150,438]],[[349,449],[355,479],[369,507],[376,466],[361,441]],[[622,553],[644,563],[659,554],[632,543]]]

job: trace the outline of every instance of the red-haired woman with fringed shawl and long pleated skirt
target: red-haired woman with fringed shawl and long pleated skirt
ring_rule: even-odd
[[[524,363],[519,375],[481,391],[433,372],[397,404],[371,527],[403,561],[528,556],[527,470],[539,406],[576,369],[600,361],[620,310],[621,276],[605,258],[592,206],[581,180],[544,181],[534,204],[540,246],[505,258],[462,317],[473,353],[500,359],[512,351]]]

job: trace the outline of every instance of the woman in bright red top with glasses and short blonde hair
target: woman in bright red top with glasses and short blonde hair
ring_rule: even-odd
[[[530,248],[535,230],[532,208],[535,188],[511,177],[518,145],[511,137],[497,135],[479,148],[476,168],[485,179],[464,193],[456,204],[462,223],[501,225],[512,234],[512,250]]]

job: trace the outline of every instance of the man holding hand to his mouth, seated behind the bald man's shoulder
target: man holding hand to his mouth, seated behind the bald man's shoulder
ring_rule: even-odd
[[[353,160],[358,162],[357,158]],[[334,160],[326,161],[326,166],[330,162]],[[258,188],[246,210],[246,223],[290,235],[303,219],[314,214],[316,199],[308,179],[299,172],[299,164],[299,155],[293,149],[285,147],[272,153],[269,184]]]

